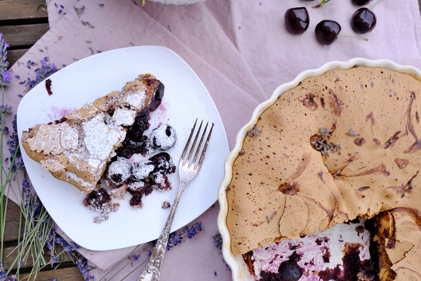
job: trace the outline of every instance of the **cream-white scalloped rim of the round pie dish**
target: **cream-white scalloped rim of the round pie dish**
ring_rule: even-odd
[[[271,107],[277,99],[289,91],[298,84],[308,78],[320,76],[330,70],[348,70],[353,67],[384,67],[389,70],[394,70],[400,73],[407,73],[414,77],[416,80],[421,82],[421,71],[415,67],[409,65],[396,64],[388,59],[369,60],[363,58],[354,58],[346,62],[328,62],[323,64],[321,67],[312,70],[305,70],[297,75],[297,77],[291,82],[284,83],[277,87],[273,92],[272,96],[265,102],[259,104],[253,111],[253,115],[250,121],[243,126],[237,134],[235,145],[232,151],[227,156],[224,163],[224,179],[221,182],[218,190],[218,202],[219,202],[219,214],[218,214],[218,230],[222,237],[222,256],[227,265],[232,270],[233,281],[254,281],[254,278],[250,276],[250,273],[245,265],[242,255],[239,254],[234,256],[231,251],[231,236],[229,234],[228,227],[226,225],[226,216],[228,214],[228,201],[226,198],[226,187],[229,185],[232,179],[232,166],[234,165],[235,159],[242,149],[242,145],[247,134],[253,128],[253,125],[257,123],[260,115]]]

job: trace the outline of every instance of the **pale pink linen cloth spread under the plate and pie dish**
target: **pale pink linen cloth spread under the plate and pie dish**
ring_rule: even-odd
[[[175,6],[147,1],[141,7],[141,0],[56,1],[64,6],[62,9],[48,1],[51,28],[13,65],[13,75],[19,75],[21,80],[26,77],[33,79],[34,72],[25,65],[29,59],[37,62],[48,56],[50,62],[60,66],[91,56],[90,47],[95,54],[97,50],[133,45],[162,45],[179,54],[203,81],[218,108],[232,147],[237,131],[249,120],[258,103],[303,70],[353,57],[390,59],[421,67],[421,20],[416,0],[402,1],[399,5],[390,0],[382,1],[373,9],[377,26],[366,34],[368,41],[340,37],[330,46],[316,42],[314,27],[317,22],[333,19],[341,24],[341,35],[358,35],[351,29],[349,21],[352,13],[360,7],[351,0],[333,0],[315,9],[312,8],[315,2],[208,0]],[[371,8],[374,3],[366,6]],[[85,9],[77,15],[74,7],[83,6]],[[309,29],[302,35],[291,35],[283,26],[283,15],[288,8],[301,6],[309,11]],[[60,9],[62,13],[59,14]],[[13,79],[6,89],[5,104],[12,105],[13,112],[20,101],[17,95],[24,94],[24,85],[18,83],[21,80]],[[10,128],[11,119],[13,116],[9,115],[6,120],[6,126]],[[5,153],[8,154],[7,149]],[[162,280],[231,280],[219,250],[213,246],[217,213],[218,203],[195,220],[204,225],[203,232],[166,254]],[[68,238],[59,229],[58,232]],[[98,252],[81,248],[78,251],[88,259],[89,265],[96,267],[90,274],[97,280],[119,260],[126,258],[129,264],[125,268],[127,262],[104,278],[109,280],[116,274],[113,280],[121,280],[147,258],[147,251],[142,252],[139,260],[131,263],[127,257],[133,249]],[[141,245],[134,254],[141,249],[150,249],[150,246]],[[143,265],[126,280],[136,280],[142,269]]]

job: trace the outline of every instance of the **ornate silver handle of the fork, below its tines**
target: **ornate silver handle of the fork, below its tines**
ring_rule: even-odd
[[[180,180],[179,190],[177,191],[176,198],[174,199],[173,206],[171,207],[170,214],[168,215],[165,227],[159,236],[151,255],[149,256],[148,263],[143,270],[141,276],[137,281],[159,281],[160,267],[164,259],[165,250],[167,249],[168,236],[170,235],[171,225],[173,224],[174,215],[176,214],[177,207],[181,199],[181,194],[187,182],[184,179]]]

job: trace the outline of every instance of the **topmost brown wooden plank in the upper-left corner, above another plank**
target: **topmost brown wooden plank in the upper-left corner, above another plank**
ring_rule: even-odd
[[[47,8],[38,8],[39,4],[45,5],[45,0],[3,0],[0,1],[0,21],[11,19],[46,18]],[[53,4],[53,3],[51,3]],[[53,4],[54,5],[54,4]],[[43,11],[43,9],[45,11]]]

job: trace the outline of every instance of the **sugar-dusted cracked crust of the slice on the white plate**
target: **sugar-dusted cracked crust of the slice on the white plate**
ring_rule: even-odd
[[[125,139],[127,128],[123,126],[132,125],[136,114],[150,106],[158,85],[155,76],[139,75],[121,92],[23,131],[22,146],[55,178],[90,193]]]

